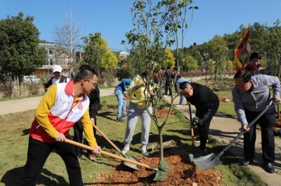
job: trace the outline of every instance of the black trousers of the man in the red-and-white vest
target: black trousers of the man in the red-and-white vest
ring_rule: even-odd
[[[70,139],[69,135],[66,137]],[[41,169],[48,155],[50,155],[54,149],[65,162],[70,185],[83,185],[81,168],[77,155],[75,154],[74,145],[65,142],[45,143],[30,137],[28,142],[27,162],[25,164],[25,175],[21,181],[22,186],[36,185]]]

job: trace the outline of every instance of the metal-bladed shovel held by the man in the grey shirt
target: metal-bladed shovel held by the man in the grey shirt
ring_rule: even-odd
[[[278,103],[279,103],[279,101],[271,104],[266,109],[264,109],[250,124],[248,124],[248,128],[251,127],[257,120],[259,120],[261,115],[266,113],[268,108],[270,108],[271,106],[275,106]],[[204,156],[204,157],[195,158],[195,159],[193,159],[193,162],[195,163],[196,166],[198,166],[198,168],[201,171],[204,171],[205,169],[209,169],[211,167],[214,167],[214,166],[217,166],[219,164],[222,164],[223,162],[221,162],[219,157],[221,157],[221,155],[223,155],[223,153],[226,152],[226,150],[228,150],[228,148],[230,148],[230,146],[233,145],[233,143],[235,143],[235,141],[237,141],[237,139],[240,138],[244,134],[244,132],[245,132],[244,130],[241,131],[240,134],[238,134],[238,136],[236,138],[234,138],[233,141],[231,141],[226,146],[226,148],[224,148],[217,156],[215,156],[214,153],[211,153],[210,155],[207,155],[207,156]]]

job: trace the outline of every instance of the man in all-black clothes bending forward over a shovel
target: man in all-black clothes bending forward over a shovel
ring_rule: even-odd
[[[206,143],[208,141],[211,119],[216,114],[219,106],[218,96],[208,87],[198,83],[183,82],[180,85],[180,89],[186,101],[190,102],[190,104],[194,105],[196,108],[195,116],[200,120],[200,122],[197,123],[200,133],[199,148],[204,152],[207,150]],[[191,127],[194,126],[191,125]]]

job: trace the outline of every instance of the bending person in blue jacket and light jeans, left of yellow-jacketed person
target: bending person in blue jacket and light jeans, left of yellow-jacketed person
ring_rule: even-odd
[[[119,83],[115,87],[115,96],[117,96],[118,100],[118,108],[117,108],[117,122],[124,122],[121,117],[121,111],[123,113],[123,117],[126,117],[126,99],[124,96],[124,92],[127,90],[131,83],[131,78],[123,79],[121,83]]]

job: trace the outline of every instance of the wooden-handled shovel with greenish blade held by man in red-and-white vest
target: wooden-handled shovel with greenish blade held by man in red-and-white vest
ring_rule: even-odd
[[[78,143],[78,142],[72,141],[72,140],[70,140],[70,139],[67,139],[67,141],[65,141],[65,142],[66,142],[66,143],[70,143],[70,144],[72,144],[72,145],[77,145],[77,146],[79,146],[80,148],[86,148],[86,149],[88,149],[88,150],[92,150],[92,151],[93,151],[93,148],[91,148],[89,145],[84,145],[84,144],[82,144],[82,143]],[[122,160],[122,161],[124,161],[124,162],[129,162],[129,163],[131,163],[131,164],[136,164],[136,165],[138,165],[138,166],[143,166],[143,167],[145,167],[145,168],[147,168],[147,169],[151,169],[151,170],[157,171],[157,172],[156,172],[156,175],[155,175],[155,178],[153,179],[153,180],[155,180],[155,181],[164,181],[164,180],[166,180],[166,179],[168,178],[168,176],[169,176],[169,165],[167,166],[166,164],[168,164],[168,163],[163,162],[163,161],[160,161],[159,164],[158,164],[158,168],[156,168],[156,167],[154,167],[154,166],[149,166],[149,165],[143,164],[143,163],[141,163],[141,162],[136,162],[136,161],[133,161],[133,160],[131,160],[131,159],[127,159],[127,158],[125,158],[125,157],[120,157],[120,156],[118,156],[118,155],[113,155],[112,153],[110,153],[110,152],[105,152],[105,151],[103,151],[103,150],[100,150],[100,154],[102,154],[102,155],[107,155],[107,156],[113,157],[113,158],[115,158],[115,159],[120,159],[120,160]]]

